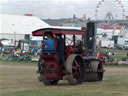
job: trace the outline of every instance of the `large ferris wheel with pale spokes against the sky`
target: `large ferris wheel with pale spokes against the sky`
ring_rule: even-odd
[[[96,20],[125,19],[125,9],[120,0],[100,0],[95,10]]]

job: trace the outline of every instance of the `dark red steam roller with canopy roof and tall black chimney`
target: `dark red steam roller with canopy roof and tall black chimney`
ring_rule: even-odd
[[[65,46],[65,63],[60,64],[56,53],[56,38],[54,50],[45,50],[44,39],[47,32],[53,35],[62,34],[65,42],[67,35],[72,35],[72,44]],[[84,81],[101,81],[103,79],[102,61],[95,58],[95,23],[90,22],[87,28],[65,29],[65,28],[43,28],[32,32],[33,36],[43,37],[43,47],[38,62],[39,81],[45,85],[55,85],[59,80],[66,79],[69,84],[80,84]],[[81,35],[80,44],[76,44],[76,35]],[[64,69],[62,66],[64,65]]]

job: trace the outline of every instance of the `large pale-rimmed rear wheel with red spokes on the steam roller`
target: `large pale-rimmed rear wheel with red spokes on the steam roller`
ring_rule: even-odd
[[[84,61],[80,55],[70,55],[66,60],[67,80],[69,84],[80,84],[84,81]]]

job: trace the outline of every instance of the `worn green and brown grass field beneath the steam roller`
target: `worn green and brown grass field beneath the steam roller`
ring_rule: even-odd
[[[128,66],[104,66],[101,82],[56,86],[38,82],[36,62],[0,61],[0,96],[128,96]]]

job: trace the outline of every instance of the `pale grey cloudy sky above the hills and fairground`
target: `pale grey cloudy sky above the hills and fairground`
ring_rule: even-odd
[[[100,4],[100,1],[104,2]],[[30,13],[42,19],[71,18],[73,14],[79,18],[84,14],[91,19],[95,19],[96,14],[98,18],[105,18],[107,12],[117,18],[128,16],[128,0],[0,0],[0,5],[1,13]]]

